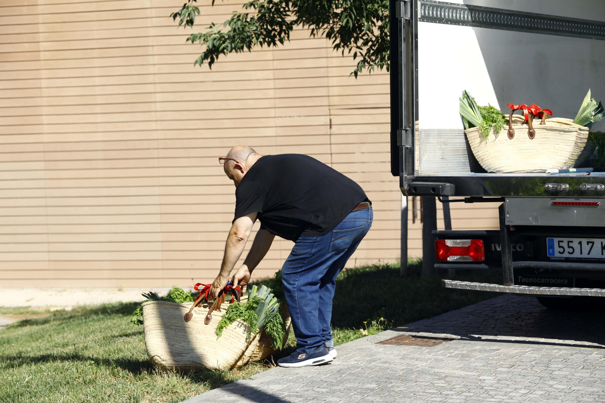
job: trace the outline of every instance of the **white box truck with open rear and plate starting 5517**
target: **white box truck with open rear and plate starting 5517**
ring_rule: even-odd
[[[468,90],[502,111],[532,102],[572,118],[589,88],[605,100],[605,1],[391,0],[390,7],[391,173],[404,195],[499,207],[499,231],[433,236],[442,252],[436,269],[502,270],[503,283],[443,280],[445,287],[535,295],[548,307],[600,301],[605,172],[486,172],[465,137],[459,97]],[[448,245],[456,255],[439,251]]]

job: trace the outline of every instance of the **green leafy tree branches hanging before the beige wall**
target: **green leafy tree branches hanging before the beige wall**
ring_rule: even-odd
[[[211,4],[214,5],[214,0]],[[206,45],[201,61],[208,61],[209,67],[221,54],[239,53],[244,49],[251,51],[264,45],[284,45],[289,41],[292,29],[300,25],[309,29],[311,38],[325,36],[341,55],[344,50],[347,54],[358,50],[358,56],[362,56],[365,63],[353,71],[356,77],[362,71],[383,68],[388,71],[390,19],[387,1],[252,0],[243,7],[243,11],[234,11],[223,24],[211,24],[203,35],[197,36],[200,45]],[[247,9],[254,11],[249,13]],[[182,24],[192,27],[195,16],[201,15],[193,0],[185,3],[178,13],[171,14],[174,21],[177,14],[180,16],[179,27]]]

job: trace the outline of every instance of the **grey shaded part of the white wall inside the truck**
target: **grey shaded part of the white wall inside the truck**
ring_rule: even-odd
[[[605,21],[603,1],[584,0],[585,7],[567,0],[549,0],[548,7],[544,1],[463,2]],[[488,28],[473,31],[503,111],[508,110],[506,103],[537,103],[552,110],[554,117],[574,119],[589,88],[597,100],[605,99],[605,41]]]

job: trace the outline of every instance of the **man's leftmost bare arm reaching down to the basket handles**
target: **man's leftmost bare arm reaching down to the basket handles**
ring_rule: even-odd
[[[229,235],[227,235],[227,241],[225,243],[225,252],[223,256],[223,263],[221,263],[221,270],[217,278],[212,282],[211,293],[214,297],[217,297],[218,292],[227,286],[229,281],[229,275],[231,270],[235,266],[235,263],[240,259],[241,252],[244,251],[246,242],[252,232],[252,226],[254,221],[257,220],[257,212],[244,215],[234,221]]]

